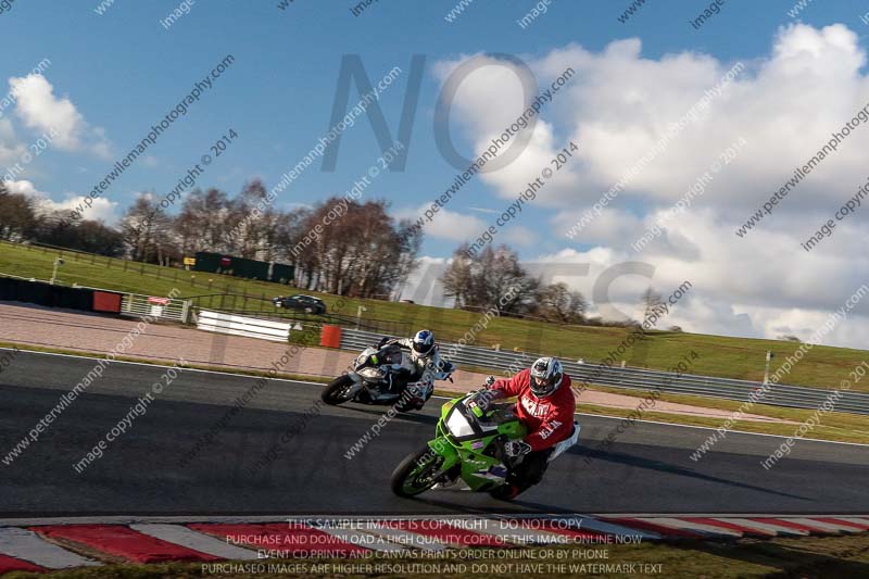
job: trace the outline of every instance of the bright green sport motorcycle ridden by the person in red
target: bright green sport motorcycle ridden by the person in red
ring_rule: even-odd
[[[507,456],[504,443],[525,438],[528,430],[512,412],[512,404],[498,404],[483,412],[475,402],[476,395],[470,392],[443,405],[434,439],[410,454],[392,473],[392,492],[415,496],[461,480],[467,490],[505,498],[503,493],[509,491],[507,473],[522,456]],[[578,438],[579,423],[575,421],[574,433],[555,446],[549,461],[576,444]]]

